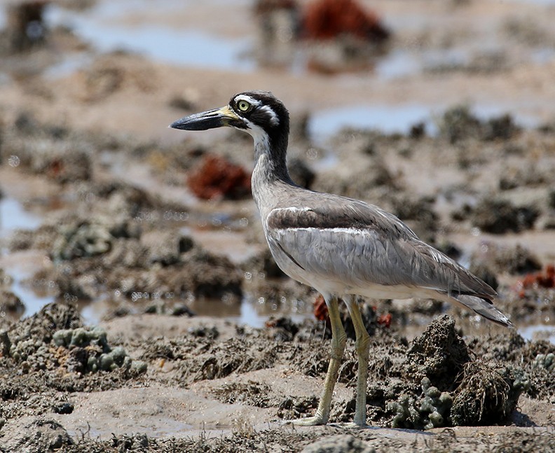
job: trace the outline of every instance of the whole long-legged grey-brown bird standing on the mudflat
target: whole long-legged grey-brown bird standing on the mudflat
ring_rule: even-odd
[[[285,274],[320,292],[331,323],[331,357],[322,397],[312,417],[329,421],[331,398],[345,350],[338,300],[355,328],[357,389],[352,425],[366,425],[370,337],[355,296],[432,298],[471,309],[502,326],[511,321],[493,305],[497,293],[465,267],[422,242],[399,218],[373,204],[298,186],[287,169],[289,112],[271,92],[247,91],[219,109],[174,121],[179,130],[233,127],[254,139],[252,196],[275,262]]]

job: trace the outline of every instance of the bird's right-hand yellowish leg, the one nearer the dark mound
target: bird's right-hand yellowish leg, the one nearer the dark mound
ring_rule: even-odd
[[[355,298],[350,295],[345,299],[349,314],[352,319],[352,325],[355,326],[355,348],[358,356],[358,372],[357,372],[357,403],[355,406],[355,419],[353,420],[357,426],[366,426],[366,386],[368,379],[368,356],[370,349],[370,335],[364,327],[362,316]]]

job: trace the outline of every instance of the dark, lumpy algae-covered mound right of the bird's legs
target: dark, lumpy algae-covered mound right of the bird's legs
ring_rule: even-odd
[[[406,352],[402,377],[420,379],[421,393],[407,390],[386,410],[394,428],[500,424],[510,417],[528,375],[497,359],[472,358],[451,316],[440,316]]]

